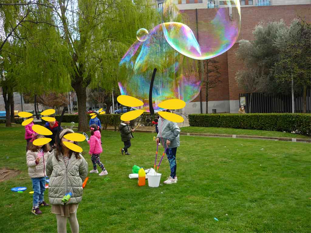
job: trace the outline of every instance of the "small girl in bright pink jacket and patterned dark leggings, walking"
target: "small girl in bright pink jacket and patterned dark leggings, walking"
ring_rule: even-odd
[[[98,173],[98,170],[96,168],[96,163],[100,166],[102,169],[102,172],[100,172],[100,176],[107,175],[108,172],[106,168],[104,167],[104,164],[100,162],[99,155],[103,152],[103,148],[101,147],[101,129],[99,126],[93,124],[90,126],[91,131],[91,138],[87,141],[88,144],[90,144],[90,151],[89,154],[92,155],[91,160],[93,163],[93,170],[90,171],[90,173]]]

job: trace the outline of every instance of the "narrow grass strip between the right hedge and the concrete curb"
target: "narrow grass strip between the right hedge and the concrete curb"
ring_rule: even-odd
[[[267,131],[267,130],[243,130],[233,128],[215,128],[215,127],[182,127],[182,132],[186,133],[205,133],[205,134],[235,134],[235,135],[254,135],[254,136],[266,136],[266,137],[283,137],[283,138],[306,138],[308,136],[283,133],[278,131]]]

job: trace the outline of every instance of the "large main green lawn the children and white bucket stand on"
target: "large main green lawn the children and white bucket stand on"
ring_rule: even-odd
[[[0,125],[0,167],[21,171],[0,182],[0,232],[56,232],[50,207],[41,208],[40,216],[30,212],[24,133],[24,127]],[[134,133],[131,155],[122,156],[119,133],[102,132],[101,161],[110,179],[89,174],[77,211],[81,233],[310,232],[310,144],[181,135],[178,183],[149,188],[146,181],[138,187],[128,174],[135,163],[153,167],[153,136]],[[80,145],[88,151],[86,142]],[[90,155],[85,158],[91,170]],[[163,184],[169,176],[166,158],[159,171]],[[27,190],[12,192],[16,186]]]

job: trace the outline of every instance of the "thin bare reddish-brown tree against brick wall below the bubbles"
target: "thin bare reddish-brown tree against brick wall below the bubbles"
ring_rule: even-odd
[[[218,83],[221,82],[220,80],[220,67],[217,65],[216,60],[208,59],[206,61],[207,67],[207,75],[206,80],[204,80],[205,88],[206,88],[206,113],[208,113],[208,92],[209,89],[214,88],[217,86]]]

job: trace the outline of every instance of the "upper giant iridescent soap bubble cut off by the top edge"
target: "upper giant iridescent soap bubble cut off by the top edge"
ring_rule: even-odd
[[[174,2],[178,3],[176,0],[163,3],[163,23],[178,18],[180,12]],[[198,9],[197,24],[194,18],[188,26],[179,23],[163,27],[169,45],[187,57],[200,60],[216,57],[229,50],[239,36],[241,9],[239,0],[223,2],[224,5],[219,8]]]

